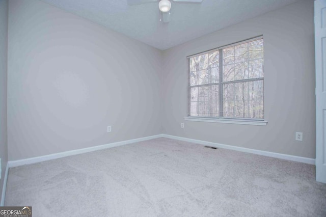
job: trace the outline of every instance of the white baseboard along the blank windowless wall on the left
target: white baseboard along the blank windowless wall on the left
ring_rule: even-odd
[[[28,164],[35,164],[36,162],[42,162],[45,160],[58,159],[58,158],[66,157],[66,156],[83,154],[83,153],[87,153],[87,152],[91,152],[91,151],[97,151],[97,150],[102,150],[102,149],[106,149],[106,148],[113,148],[113,147],[117,147],[117,146],[127,145],[130,143],[137,143],[137,142],[142,142],[142,141],[146,141],[146,140],[157,139],[160,137],[162,137],[162,134],[151,135],[150,137],[142,137],[142,138],[133,139],[133,140],[109,143],[109,144],[105,144],[105,145],[93,146],[93,147],[89,147],[89,148],[65,151],[65,152],[60,152],[60,153],[56,153],[56,154],[43,155],[43,156],[39,156],[39,157],[26,158],[26,159],[21,159],[21,160],[10,160],[10,161],[8,161],[8,165],[10,168],[10,167],[18,167],[18,166],[28,165]]]

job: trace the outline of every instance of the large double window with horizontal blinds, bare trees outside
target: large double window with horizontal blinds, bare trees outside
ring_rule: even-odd
[[[264,120],[263,38],[188,57],[188,117]]]

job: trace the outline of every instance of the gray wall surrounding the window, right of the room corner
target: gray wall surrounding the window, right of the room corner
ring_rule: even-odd
[[[315,158],[313,0],[280,10],[164,51],[163,132],[192,139]],[[267,126],[184,121],[186,56],[263,35]],[[180,123],[184,122],[184,129]],[[294,140],[303,132],[303,142]]]

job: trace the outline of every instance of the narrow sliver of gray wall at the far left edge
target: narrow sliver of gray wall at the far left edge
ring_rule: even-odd
[[[0,0],[0,157],[1,180],[0,195],[7,166],[7,35],[8,1]]]

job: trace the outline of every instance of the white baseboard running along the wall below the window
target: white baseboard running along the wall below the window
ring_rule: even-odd
[[[185,142],[197,143],[197,144],[201,144],[201,145],[208,145],[208,146],[212,146],[212,147],[216,147],[216,148],[225,148],[225,149],[230,149],[230,150],[234,150],[234,151],[247,152],[247,153],[258,154],[258,155],[263,155],[263,156],[267,156],[267,157],[275,157],[275,158],[292,160],[292,161],[296,161],[296,162],[303,162],[305,164],[315,165],[315,159],[308,158],[308,157],[280,154],[280,153],[269,152],[269,151],[260,151],[260,150],[256,150],[256,149],[242,148],[242,147],[238,147],[238,146],[224,145],[224,144],[220,144],[220,143],[213,143],[213,142],[207,142],[207,141],[202,141],[202,140],[194,140],[194,139],[188,139],[188,138],[184,138],[184,137],[177,137],[175,135],[168,135],[168,134],[162,134],[162,137],[170,138],[170,139],[174,139],[174,140],[181,140],[181,141],[185,141]]]

